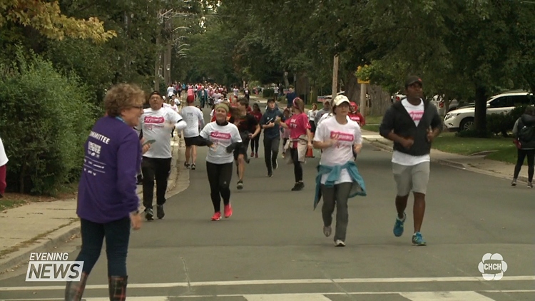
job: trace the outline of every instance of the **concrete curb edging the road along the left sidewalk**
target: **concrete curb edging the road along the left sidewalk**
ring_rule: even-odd
[[[165,194],[166,198],[170,198],[173,195],[176,195],[186,188],[189,185],[189,173],[180,173],[180,159],[184,155],[184,139],[175,138],[172,139],[173,147],[172,154],[173,158],[176,158],[175,165],[171,168],[171,173],[168,180],[168,190]],[[182,187],[185,184],[185,187]],[[138,188],[138,197],[140,198],[140,203],[143,203],[143,190]],[[143,208],[143,205],[141,205]],[[142,209],[140,208],[140,210]],[[0,274],[5,272],[11,272],[16,268],[21,267],[21,265],[26,265],[29,262],[29,256],[32,252],[54,252],[54,249],[63,243],[72,240],[73,238],[79,237],[80,235],[80,223],[78,218],[73,219],[71,223],[63,225],[60,228],[45,232],[44,234],[36,236],[31,240],[26,242],[19,243],[20,246],[18,250],[11,252],[4,257],[0,258]],[[42,237],[41,237],[42,236]],[[26,245],[26,246],[24,246]]]

